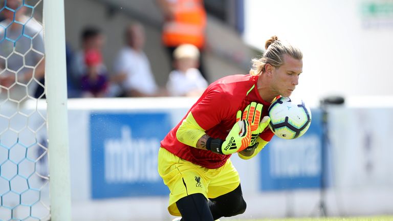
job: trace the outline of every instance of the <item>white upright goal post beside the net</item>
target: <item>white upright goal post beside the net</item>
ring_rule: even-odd
[[[43,1],[51,220],[71,220],[64,1]]]

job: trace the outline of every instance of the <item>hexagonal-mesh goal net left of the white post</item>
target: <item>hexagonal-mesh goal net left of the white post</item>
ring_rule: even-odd
[[[0,0],[0,220],[55,220],[43,2]]]

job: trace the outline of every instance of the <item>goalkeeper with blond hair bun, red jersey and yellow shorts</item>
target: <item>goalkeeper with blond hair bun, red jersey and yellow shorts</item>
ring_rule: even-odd
[[[244,213],[239,175],[229,159],[248,160],[273,137],[268,108],[289,97],[302,72],[302,53],[276,36],[253,59],[249,75],[232,75],[208,86],[186,116],[161,141],[158,171],[170,190],[174,220],[212,221]]]

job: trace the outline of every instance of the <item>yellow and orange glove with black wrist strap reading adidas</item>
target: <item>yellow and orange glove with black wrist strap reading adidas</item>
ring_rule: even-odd
[[[242,111],[238,111],[236,119],[241,119]],[[208,138],[206,149],[220,154],[232,154],[242,151],[250,145],[251,131],[247,120],[236,121],[225,140]]]

